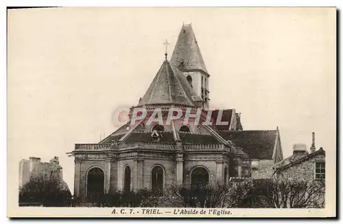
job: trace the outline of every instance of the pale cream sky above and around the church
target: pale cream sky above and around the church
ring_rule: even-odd
[[[335,158],[335,12],[330,8],[50,8],[8,12],[8,173],[60,158],[73,192],[75,143],[117,129],[137,105],[182,23],[191,23],[209,78],[210,107],[235,108],[244,129],[279,127]]]

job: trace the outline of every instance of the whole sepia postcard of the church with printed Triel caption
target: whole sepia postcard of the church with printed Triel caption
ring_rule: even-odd
[[[335,216],[336,16],[8,9],[8,216]]]

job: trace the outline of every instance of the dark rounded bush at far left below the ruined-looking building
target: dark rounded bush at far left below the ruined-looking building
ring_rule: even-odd
[[[47,207],[67,207],[71,203],[71,192],[65,184],[55,178],[38,175],[29,179],[19,189],[19,203],[40,203]]]

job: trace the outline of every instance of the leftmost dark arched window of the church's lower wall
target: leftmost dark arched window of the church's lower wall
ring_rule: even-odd
[[[96,199],[104,194],[105,173],[99,167],[93,167],[87,172],[87,197]]]

